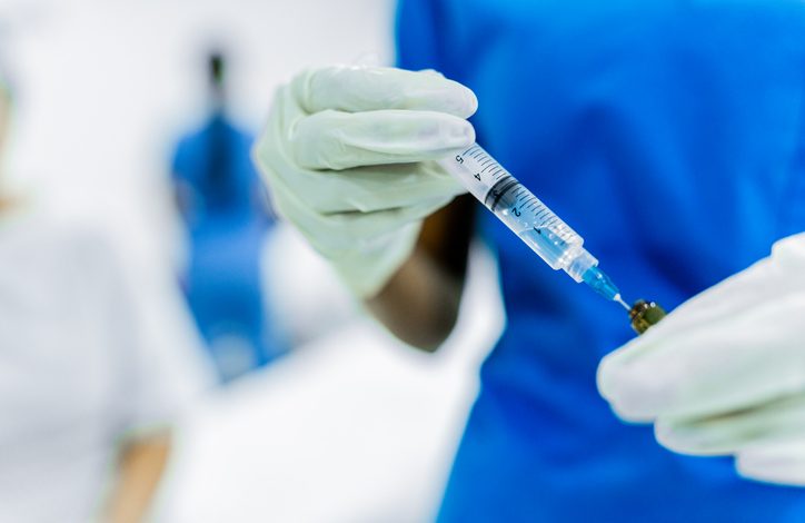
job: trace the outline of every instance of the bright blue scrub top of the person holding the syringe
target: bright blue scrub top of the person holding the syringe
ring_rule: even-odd
[[[469,86],[478,141],[673,309],[805,230],[802,0],[402,0],[398,61]],[[598,396],[624,310],[488,213],[507,327],[481,368],[445,522],[805,522],[805,490],[662,448]]]

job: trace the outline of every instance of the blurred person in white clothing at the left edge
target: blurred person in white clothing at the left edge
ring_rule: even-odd
[[[11,101],[0,77],[0,169]],[[0,521],[141,521],[205,381],[175,285],[3,191],[0,267]]]

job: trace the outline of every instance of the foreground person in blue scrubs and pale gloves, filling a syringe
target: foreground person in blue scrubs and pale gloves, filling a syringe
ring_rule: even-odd
[[[465,189],[434,161],[477,134],[587,238],[627,296],[650,292],[675,307],[805,229],[805,3],[401,0],[397,38],[407,70],[329,67],[281,87],[255,157],[277,211],[411,345],[433,351],[450,333],[477,220],[497,248],[507,326],[483,365],[439,521],[805,521],[805,491],[742,481],[727,458],[672,454],[650,428],[619,423],[596,369],[633,336],[624,312],[554,274],[489,213],[475,216],[471,199],[453,201]],[[777,257],[789,276],[802,274],[803,256],[788,246]],[[771,290],[752,299],[771,282],[762,274],[704,307],[723,314],[722,336],[738,328],[734,307],[775,313],[737,330],[751,392],[707,366],[725,367],[715,356],[733,345],[719,339],[735,336],[699,326],[705,335],[682,362],[674,343],[648,365],[654,375],[635,358],[633,394],[622,393],[633,399],[616,405],[656,415],[635,404],[640,391],[674,392],[652,389],[664,367],[679,383],[697,371],[700,394],[690,397],[703,403],[682,402],[678,413],[706,404],[709,389],[743,401],[805,387],[798,363],[779,386],[765,372],[772,362],[785,368],[781,356],[802,352],[803,336],[789,328],[802,323],[801,303],[772,307]],[[783,290],[777,279],[772,288]],[[706,325],[702,307],[693,310]],[[676,332],[684,344],[686,320],[673,316],[673,328],[660,324],[646,343]],[[785,327],[781,339],[767,336],[773,325]],[[775,351],[764,355],[766,338]],[[758,362],[764,373],[753,375]],[[778,428],[763,417],[742,423],[749,444]]]

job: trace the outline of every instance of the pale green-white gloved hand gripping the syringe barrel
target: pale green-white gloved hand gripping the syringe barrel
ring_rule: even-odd
[[[435,160],[475,141],[473,91],[435,71],[329,67],[281,87],[254,158],[277,211],[359,297],[465,189]]]

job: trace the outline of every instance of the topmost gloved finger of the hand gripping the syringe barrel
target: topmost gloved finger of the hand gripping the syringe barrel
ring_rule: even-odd
[[[300,73],[292,80],[291,89],[308,114],[327,109],[346,112],[405,109],[468,118],[478,108],[471,90],[434,71],[326,67]]]

